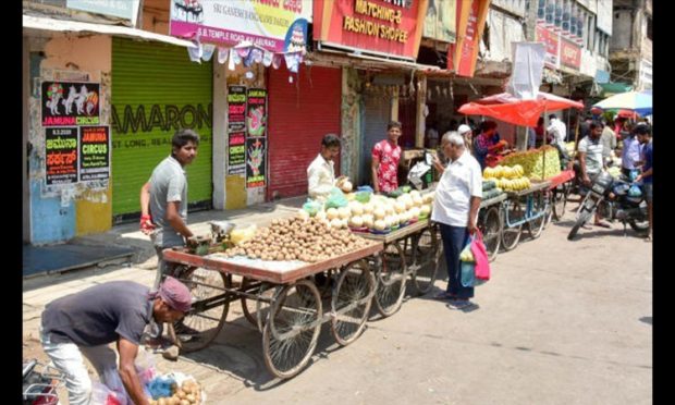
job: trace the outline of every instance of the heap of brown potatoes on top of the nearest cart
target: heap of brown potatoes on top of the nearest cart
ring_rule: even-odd
[[[262,260],[323,261],[368,246],[371,242],[348,230],[334,229],[317,218],[274,219],[255,237],[224,251],[226,257]]]

